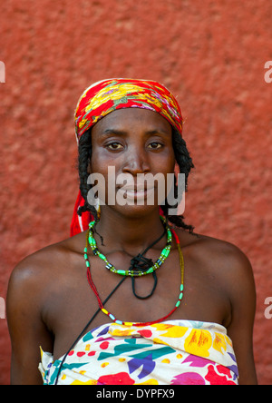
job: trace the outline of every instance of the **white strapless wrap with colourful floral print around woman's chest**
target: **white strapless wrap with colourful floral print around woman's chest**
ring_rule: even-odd
[[[45,385],[55,383],[62,359],[53,361],[42,350]],[[83,336],[65,360],[58,385],[238,385],[238,367],[227,330],[216,323],[112,323]]]

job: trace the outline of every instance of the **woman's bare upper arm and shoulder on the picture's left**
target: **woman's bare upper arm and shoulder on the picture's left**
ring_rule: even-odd
[[[38,370],[40,346],[53,351],[53,340],[42,319],[44,282],[42,270],[31,261],[19,263],[12,273],[7,294],[7,320],[12,342],[12,385],[42,385]]]

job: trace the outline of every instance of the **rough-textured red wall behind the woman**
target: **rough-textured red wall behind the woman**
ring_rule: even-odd
[[[252,262],[257,375],[272,383],[271,16],[267,0],[1,2],[0,297],[16,262],[69,235],[73,110],[83,89],[113,76],[158,80],[178,96],[197,167],[188,221]],[[0,384],[9,359],[0,319]]]

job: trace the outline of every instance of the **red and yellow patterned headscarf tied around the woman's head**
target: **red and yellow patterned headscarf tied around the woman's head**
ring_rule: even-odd
[[[112,78],[92,84],[79,99],[75,110],[75,133],[79,141],[95,123],[118,109],[141,108],[160,113],[182,135],[182,115],[176,98],[163,85],[148,80]],[[88,229],[90,213],[77,214],[84,204],[79,193],[71,224],[71,236]]]

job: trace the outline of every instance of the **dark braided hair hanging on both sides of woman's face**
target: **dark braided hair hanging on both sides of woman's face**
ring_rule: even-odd
[[[194,165],[189,155],[186,142],[184,141],[184,139],[180,137],[180,133],[175,128],[172,128],[172,144],[176,162],[180,167],[180,173],[185,174],[185,191],[187,192],[189,172],[191,171],[192,168],[194,168]],[[85,201],[84,205],[79,208],[78,214],[82,215],[84,211],[90,211],[93,215],[94,220],[98,221],[97,211],[94,206],[88,203],[87,199],[88,192],[92,188],[92,185],[87,183],[90,174],[89,166],[91,158],[92,158],[92,129],[89,129],[81,136],[78,146],[78,171],[79,171],[80,190],[83,195],[83,199]],[[176,182],[174,186],[175,197],[177,197],[177,193],[178,193],[178,187]],[[178,216],[168,214],[170,206],[167,201],[165,202],[165,205],[161,205],[160,207],[165,217],[172,224],[186,231],[189,231],[190,233],[194,231],[193,226],[188,225],[184,222],[183,215]]]

